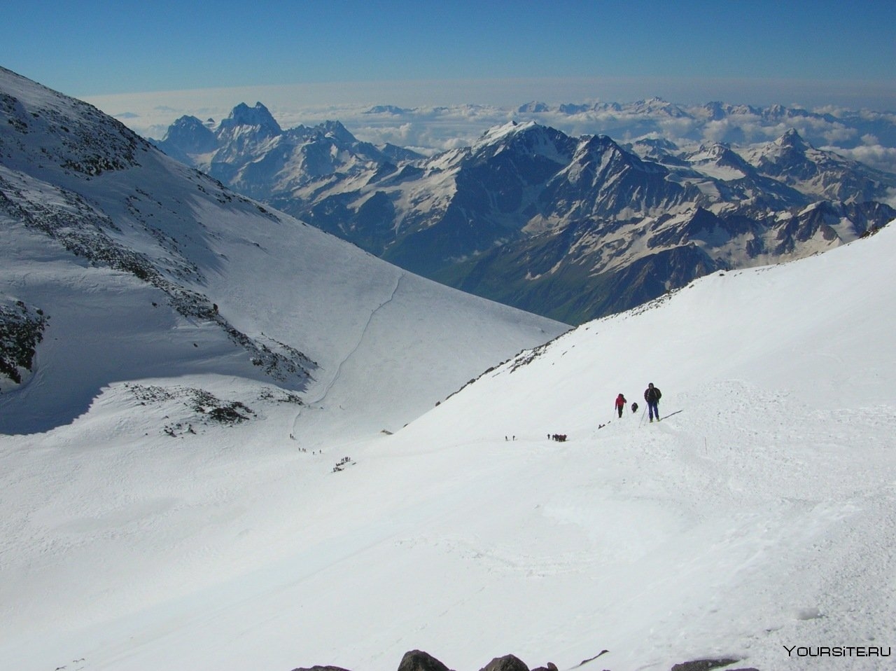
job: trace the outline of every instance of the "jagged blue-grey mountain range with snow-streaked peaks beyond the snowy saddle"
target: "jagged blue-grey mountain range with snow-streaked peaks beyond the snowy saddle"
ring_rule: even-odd
[[[640,106],[615,111],[630,122],[685,115],[660,100]],[[736,112],[717,104],[707,121]],[[338,121],[284,131],[256,103],[217,124],[180,118],[157,144],[398,266],[573,324],[704,274],[836,247],[896,216],[896,175],[792,129],[745,148],[682,147],[510,122],[422,156],[360,142]]]

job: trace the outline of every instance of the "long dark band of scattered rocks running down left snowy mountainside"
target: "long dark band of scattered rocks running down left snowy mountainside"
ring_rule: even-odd
[[[270,339],[261,342],[239,331],[218,313],[207,296],[188,288],[187,283],[203,283],[202,270],[185,255],[185,240],[153,223],[151,217],[162,207],[158,198],[141,187],[134,187],[125,197],[136,225],[158,244],[160,254],[151,257],[145,249],[138,251],[123,243],[124,224],[78,192],[82,179],[140,166],[137,157],[140,152],[151,151],[151,144],[87,103],[56,92],[43,93],[41,101],[35,103],[0,92],[0,130],[4,131],[0,133],[0,155],[10,161],[4,164],[4,169],[10,170],[0,175],[0,216],[43,233],[91,266],[133,274],[150,283],[168,294],[171,307],[181,315],[217,323],[266,375],[295,388],[303,387],[310,370],[316,367],[314,362],[285,344]],[[22,172],[15,169],[17,165],[30,168]],[[78,179],[66,181],[67,187],[56,180],[47,181],[53,166]],[[221,204],[235,200],[249,203],[244,196],[229,194],[217,180],[199,173],[195,179],[202,193],[214,196]],[[147,206],[152,210],[149,214]],[[275,218],[261,205],[258,208]],[[189,216],[169,214],[181,217],[184,230],[204,229],[202,222]]]

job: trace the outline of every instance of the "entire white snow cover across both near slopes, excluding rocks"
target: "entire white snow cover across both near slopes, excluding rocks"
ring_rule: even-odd
[[[564,329],[140,158],[88,180],[91,207],[319,365],[291,403],[222,332],[154,311],[159,292],[3,222],[3,293],[51,317],[33,379],[0,398],[27,429],[0,435],[4,667],[890,666],[786,646],[896,643],[892,226],[703,278],[445,398]],[[649,381],[663,421],[616,419]],[[211,421],[203,393],[250,418]]]

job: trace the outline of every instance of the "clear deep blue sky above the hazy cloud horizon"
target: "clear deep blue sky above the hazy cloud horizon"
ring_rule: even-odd
[[[665,84],[692,98],[677,102],[793,102],[775,96],[802,91],[811,105],[830,92],[834,104],[896,109],[894,26],[892,0],[33,0],[4,12],[0,65],[76,97],[593,80],[630,83],[636,97],[662,95],[651,87]],[[714,95],[737,83],[766,100]]]

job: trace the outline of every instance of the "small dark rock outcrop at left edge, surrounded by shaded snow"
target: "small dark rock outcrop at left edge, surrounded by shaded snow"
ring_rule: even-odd
[[[0,297],[0,376],[22,384],[49,319],[39,308]]]

